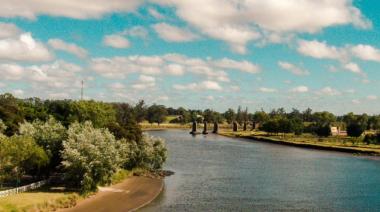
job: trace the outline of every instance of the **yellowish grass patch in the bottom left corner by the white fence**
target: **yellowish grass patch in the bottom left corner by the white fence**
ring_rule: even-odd
[[[50,187],[0,198],[0,211],[55,211],[76,205],[80,196]]]

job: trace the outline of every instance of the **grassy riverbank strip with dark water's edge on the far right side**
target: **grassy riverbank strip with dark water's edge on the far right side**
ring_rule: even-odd
[[[263,141],[268,143],[275,143],[281,145],[303,147],[310,149],[320,149],[329,151],[339,151],[361,155],[373,155],[380,156],[380,145],[366,145],[366,144],[354,144],[346,142],[345,138],[316,138],[312,136],[270,136],[260,132],[242,131],[220,131],[218,133],[222,136],[231,138],[246,138],[256,141]],[[346,139],[347,140],[347,139]],[[345,142],[343,142],[345,141]]]

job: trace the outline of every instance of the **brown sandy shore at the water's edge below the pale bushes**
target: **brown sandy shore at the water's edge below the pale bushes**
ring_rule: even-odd
[[[157,178],[130,177],[122,183],[101,188],[97,194],[62,212],[135,211],[153,201],[164,181]]]

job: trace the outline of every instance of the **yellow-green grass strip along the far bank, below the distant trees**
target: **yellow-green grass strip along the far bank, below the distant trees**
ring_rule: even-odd
[[[260,141],[287,144],[293,146],[303,146],[326,150],[330,149],[335,151],[380,155],[380,145],[365,144],[361,141],[360,138],[351,138],[348,136],[330,136],[327,138],[319,138],[311,134],[268,135],[267,133],[260,131],[232,132],[231,130],[223,130],[220,131],[219,134],[229,137],[252,138]]]

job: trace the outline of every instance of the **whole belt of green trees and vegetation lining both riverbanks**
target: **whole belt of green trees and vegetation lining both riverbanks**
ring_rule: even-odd
[[[66,196],[58,198],[64,207],[75,203],[75,192],[86,195],[96,191],[98,185],[122,180],[133,170],[162,168],[166,160],[164,142],[144,135],[141,127],[188,128],[192,121],[217,122],[221,134],[229,136],[380,153],[379,115],[336,116],[327,111],[286,112],[283,108],[249,113],[248,108],[243,110],[240,106],[237,111],[219,113],[211,109],[148,106],[144,101],[130,105],[17,99],[3,94],[0,119],[0,189],[50,178],[52,183],[66,188]],[[232,132],[233,123],[240,130]],[[332,126],[346,135],[332,136]],[[0,210],[3,205],[14,206],[8,203],[0,201]]]

